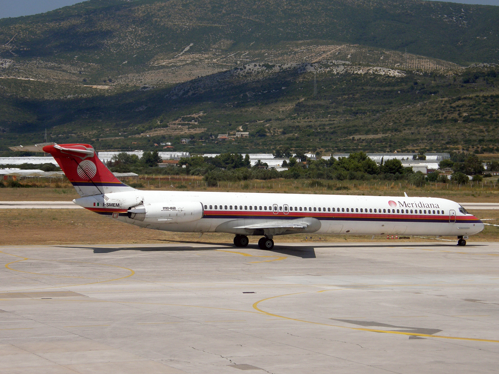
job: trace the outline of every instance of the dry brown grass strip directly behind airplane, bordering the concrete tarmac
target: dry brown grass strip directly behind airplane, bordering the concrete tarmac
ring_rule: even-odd
[[[487,223],[499,224],[499,210],[475,210],[479,218],[492,218]],[[305,242],[309,234],[275,237],[276,243]],[[496,241],[499,227],[486,226],[485,230],[470,238],[470,241]],[[132,244],[203,242],[231,244],[234,235],[207,233],[200,237],[194,233],[176,233],[149,230],[115,221],[109,217],[85,209],[2,209],[0,215],[1,245],[60,245],[60,244]],[[394,242],[385,236],[313,235],[313,242]],[[256,243],[258,236],[250,237]],[[454,237],[449,239],[455,239]],[[428,238],[413,237],[405,242],[428,241]],[[430,239],[433,240],[433,239]],[[310,242],[308,240],[307,242]],[[397,242],[402,242],[398,240]]]

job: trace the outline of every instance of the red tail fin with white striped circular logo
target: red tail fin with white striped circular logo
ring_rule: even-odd
[[[131,191],[99,160],[88,144],[54,144],[43,147],[55,159],[80,196]]]

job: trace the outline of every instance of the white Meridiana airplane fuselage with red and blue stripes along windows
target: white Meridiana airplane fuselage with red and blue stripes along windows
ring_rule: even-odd
[[[465,236],[484,228],[458,203],[432,197],[134,190],[74,201],[126,223],[178,232]],[[189,213],[193,203],[198,211]],[[134,206],[156,210],[139,220],[127,213]]]

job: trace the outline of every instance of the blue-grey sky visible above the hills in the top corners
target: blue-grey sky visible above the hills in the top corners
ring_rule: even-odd
[[[0,18],[44,13],[82,0],[0,0]],[[451,0],[463,4],[497,5],[499,0]]]

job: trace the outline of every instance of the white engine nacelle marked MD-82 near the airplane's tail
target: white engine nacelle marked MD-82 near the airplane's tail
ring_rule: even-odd
[[[128,218],[151,223],[185,223],[203,218],[199,201],[169,201],[140,204],[128,209]]]

